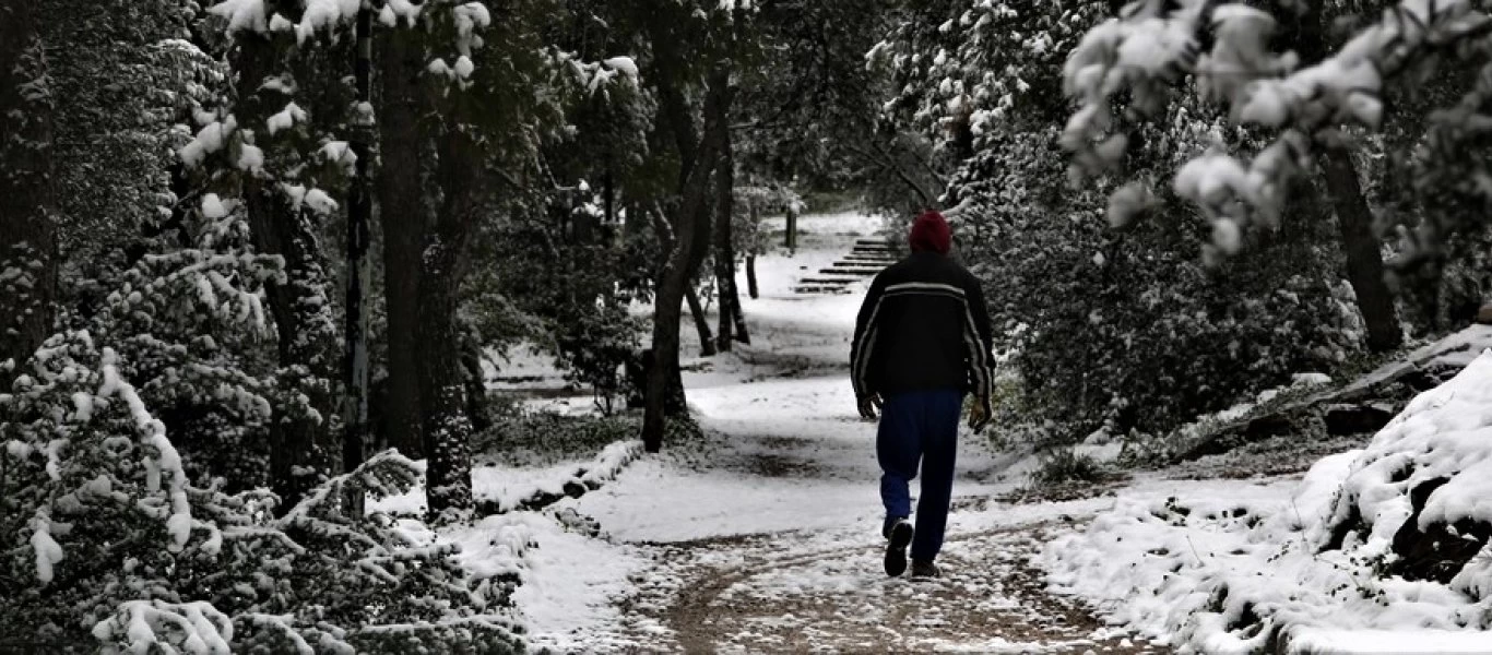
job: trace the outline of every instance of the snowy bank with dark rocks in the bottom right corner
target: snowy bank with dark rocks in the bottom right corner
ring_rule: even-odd
[[[1492,652],[1492,352],[1261,491],[1122,497],[1041,564],[1182,651]]]

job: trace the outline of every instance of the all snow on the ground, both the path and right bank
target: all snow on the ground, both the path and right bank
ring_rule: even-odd
[[[580,498],[439,536],[425,530],[427,540],[460,543],[463,562],[479,577],[522,580],[513,598],[536,646],[1240,652],[1277,645],[1267,624],[1279,621],[1289,625],[1280,633],[1289,648],[1308,652],[1492,652],[1482,633],[1456,628],[1458,616],[1485,621],[1485,603],[1444,585],[1374,580],[1361,549],[1313,546],[1320,536],[1307,527],[1334,509],[1343,479],[1371,468],[1358,452],[1329,457],[1304,477],[1150,473],[1119,497],[1010,504],[1034,460],[991,452],[985,439],[964,434],[940,557],[944,577],[886,579],[874,425],[856,416],[846,377],[868,281],[844,295],[792,291],[856,237],[873,236],[879,221],[834,215],[800,224],[801,249],[762,255],[761,297],[742,298],[752,345],[683,363],[704,442],[665,445],[630,464],[622,451],[601,454],[589,467],[615,479]],[[686,355],[697,354],[688,316],[682,334]],[[1423,355],[1465,357],[1468,348],[1470,340],[1438,343]],[[554,392],[561,377],[539,355],[519,354],[503,376],[497,386],[546,389],[531,400],[546,409],[589,407],[588,397]],[[1483,383],[1492,388],[1492,379]],[[1401,431],[1432,439],[1447,425],[1476,430],[1464,418],[1435,418],[1455,392],[1431,398],[1416,401],[1419,418],[1397,422]],[[1492,410],[1477,421],[1492,422]],[[1115,445],[1100,442],[1085,452],[1112,455]],[[477,495],[504,506],[574,479],[576,463],[474,473]],[[1392,495],[1382,479],[1376,485],[1362,494]],[[416,491],[376,509],[416,512],[422,501]],[[1461,509],[1482,512],[1470,507]],[[586,518],[600,524],[598,536]],[[1379,631],[1385,627],[1392,631]]]

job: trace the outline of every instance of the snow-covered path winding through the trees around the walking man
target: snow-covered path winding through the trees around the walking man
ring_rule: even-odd
[[[844,370],[862,292],[791,291],[874,222],[810,216],[803,227],[795,257],[758,261],[762,297],[746,300],[755,346],[686,363],[704,443],[665,445],[565,501],[601,524],[603,540],[557,534],[530,555],[536,570],[518,601],[537,645],[1149,652],[1046,594],[1029,564],[1073,516],[1107,501],[998,501],[1024,479],[980,437],[965,434],[959,448],[944,577],[885,576],[876,428],[855,413]]]

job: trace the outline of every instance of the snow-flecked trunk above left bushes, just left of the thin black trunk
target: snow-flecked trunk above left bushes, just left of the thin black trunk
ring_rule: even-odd
[[[276,73],[275,46],[248,31],[239,33],[237,46],[239,112],[245,125],[263,125],[283,106],[279,91],[261,87]],[[246,178],[243,198],[254,249],[285,260],[285,282],[264,285],[280,366],[279,416],[270,422],[270,488],[280,497],[278,510],[285,512],[336,468],[339,448],[328,430],[337,404],[331,392],[337,328],[325,301],[331,282],[316,240],[319,218],[309,207],[294,206],[264,176]]]

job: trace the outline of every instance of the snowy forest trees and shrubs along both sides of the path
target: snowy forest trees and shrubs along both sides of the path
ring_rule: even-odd
[[[519,643],[361,498],[473,516],[515,343],[691,430],[800,194],[947,209],[1052,442],[1464,324],[1492,19],[1265,4],[0,0],[0,637]]]

